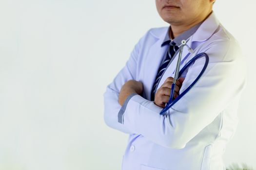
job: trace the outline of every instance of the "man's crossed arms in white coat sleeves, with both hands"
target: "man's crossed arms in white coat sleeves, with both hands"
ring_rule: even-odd
[[[155,101],[134,95],[127,103],[123,123],[118,112],[127,96],[141,94],[143,85],[136,80],[139,44],[133,50],[126,66],[118,73],[104,94],[104,119],[110,127],[128,134],[140,134],[148,140],[169,148],[184,148],[187,142],[209,125],[230,102],[237,99],[245,84],[244,59],[236,44],[229,47],[225,41],[213,42],[205,51],[210,61],[197,84],[168,110],[168,117],[160,116],[163,103],[169,99],[172,78],[158,89]],[[220,50],[221,49],[221,50]],[[185,80],[178,81],[178,92],[184,91],[197,77],[204,64],[198,59],[188,69]],[[238,69],[239,68],[239,69]],[[241,79],[237,82],[236,77]],[[169,83],[167,83],[169,82]],[[220,96],[219,92],[222,91]]]

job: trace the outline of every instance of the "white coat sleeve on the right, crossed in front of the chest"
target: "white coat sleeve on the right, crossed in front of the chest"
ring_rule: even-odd
[[[245,67],[237,43],[216,40],[200,52],[209,55],[208,67],[197,84],[169,109],[167,117],[159,115],[162,108],[154,102],[135,95],[126,106],[124,125],[159,145],[182,149],[239,97]],[[188,68],[180,93],[196,79],[204,63],[202,57]]]

